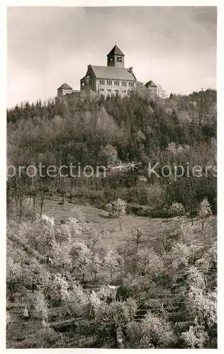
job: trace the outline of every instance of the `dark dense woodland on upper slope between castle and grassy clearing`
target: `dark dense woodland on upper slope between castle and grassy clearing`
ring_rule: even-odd
[[[125,98],[71,95],[55,103],[27,102],[8,110],[8,166],[42,163],[59,169],[72,163],[108,168],[102,178],[32,179],[24,173],[8,179],[8,199],[11,194],[20,198],[23,189],[26,195],[42,198],[43,191],[57,190],[71,198],[88,198],[100,207],[120,197],[148,205],[152,215],[181,202],[193,215],[206,197],[216,212],[216,91],[154,100],[147,97],[147,89],[138,91]],[[111,167],[133,161],[138,169],[124,170],[114,178],[119,170]],[[177,181],[149,176],[149,162],[154,166],[158,161],[160,169],[169,165],[173,170],[181,164],[186,171],[189,164],[201,166],[202,173],[189,177],[184,173]],[[213,169],[205,172],[206,166]]]

